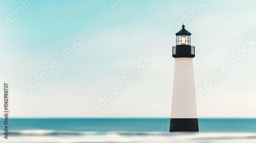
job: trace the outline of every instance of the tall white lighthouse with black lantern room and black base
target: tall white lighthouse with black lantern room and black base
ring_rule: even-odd
[[[191,33],[182,25],[176,33],[172,110],[170,132],[198,132],[197,102],[193,71],[195,46],[190,45]]]

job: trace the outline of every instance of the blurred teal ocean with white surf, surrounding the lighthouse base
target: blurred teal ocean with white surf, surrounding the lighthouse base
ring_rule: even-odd
[[[169,133],[169,118],[1,118],[0,142],[256,142],[256,118],[199,118],[199,133]]]

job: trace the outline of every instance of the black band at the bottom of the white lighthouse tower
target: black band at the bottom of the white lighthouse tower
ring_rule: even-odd
[[[170,118],[170,132],[199,132],[197,118]]]

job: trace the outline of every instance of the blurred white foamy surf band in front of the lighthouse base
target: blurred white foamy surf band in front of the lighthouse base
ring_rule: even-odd
[[[256,133],[246,132],[162,133],[20,130],[10,131],[9,137],[9,142],[256,142]],[[0,138],[0,142],[6,142],[2,138]]]

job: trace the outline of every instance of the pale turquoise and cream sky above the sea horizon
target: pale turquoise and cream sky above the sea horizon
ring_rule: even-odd
[[[0,1],[10,116],[170,117],[172,46],[184,22],[196,47],[198,117],[256,117],[255,5]]]

